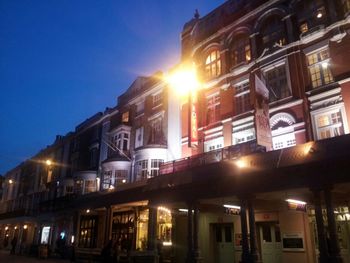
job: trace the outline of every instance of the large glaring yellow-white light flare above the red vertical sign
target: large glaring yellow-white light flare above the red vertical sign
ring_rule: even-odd
[[[166,76],[166,82],[180,96],[188,96],[189,92],[198,89],[199,81],[194,66],[176,70],[172,74]]]

